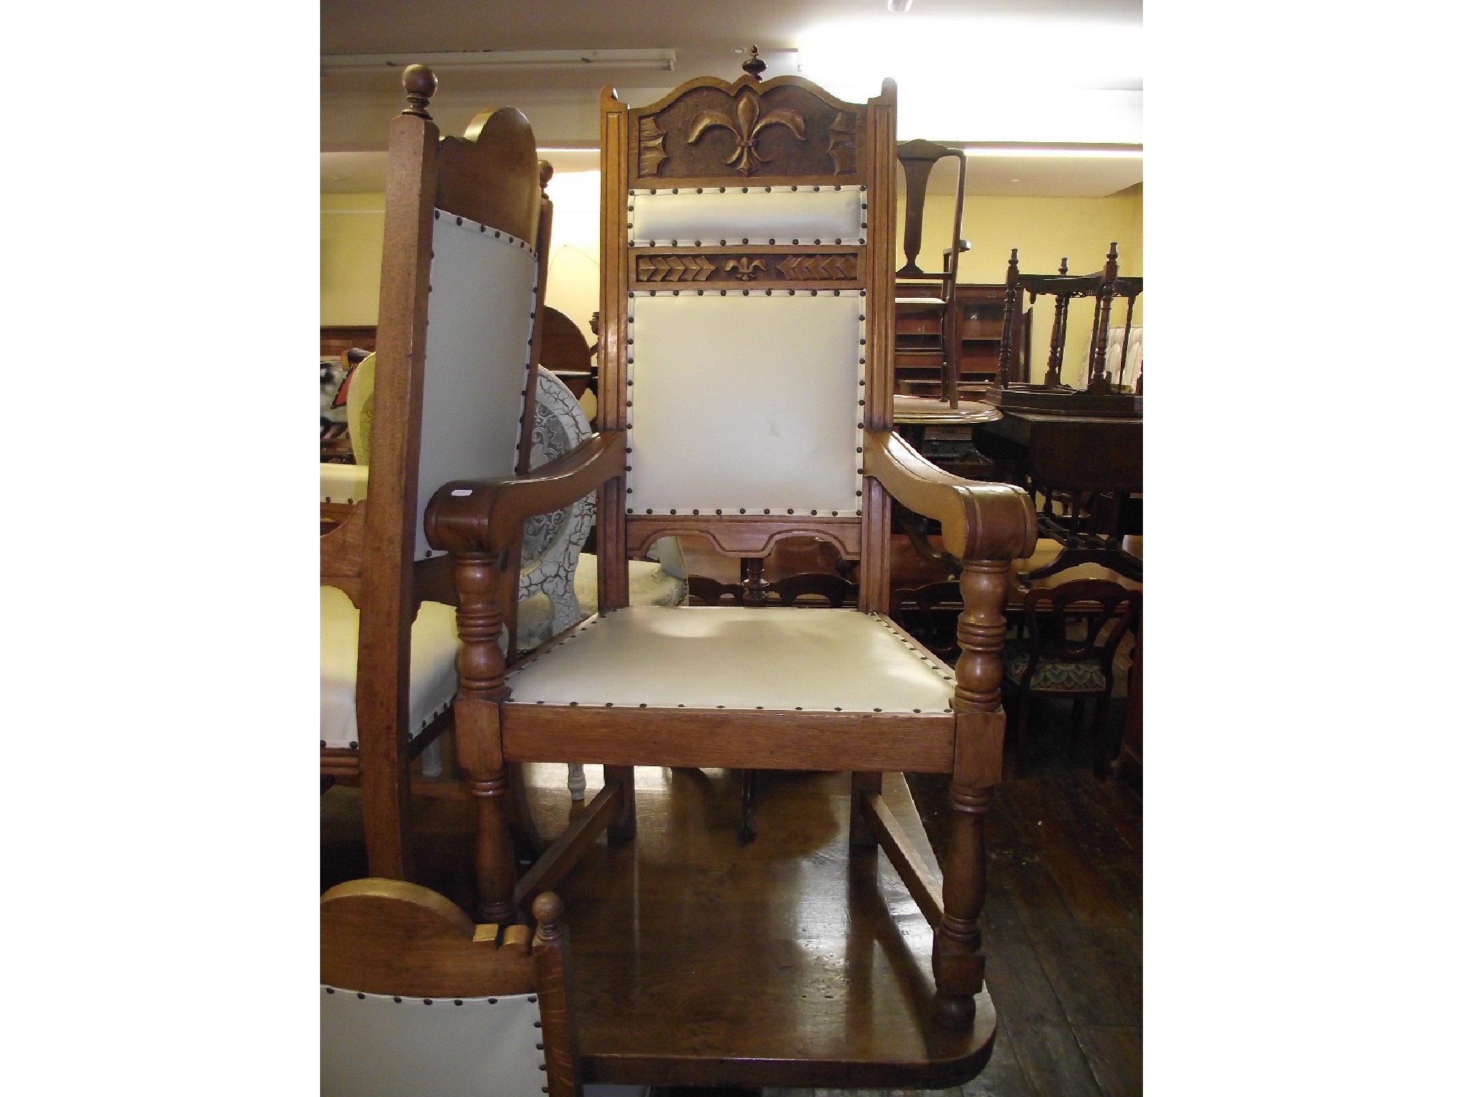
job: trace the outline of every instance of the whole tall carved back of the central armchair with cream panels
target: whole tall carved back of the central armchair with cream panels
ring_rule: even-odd
[[[601,148],[600,427],[629,456],[600,496],[600,606],[661,537],[859,559],[887,521],[860,453],[892,402],[892,82],[866,104],[796,76],[638,108],[606,89]]]

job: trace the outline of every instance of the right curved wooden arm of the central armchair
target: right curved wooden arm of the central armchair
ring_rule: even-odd
[[[1036,508],[1021,489],[952,475],[891,430],[863,439],[865,474],[914,513],[936,519],[957,560],[1020,560],[1036,551]]]

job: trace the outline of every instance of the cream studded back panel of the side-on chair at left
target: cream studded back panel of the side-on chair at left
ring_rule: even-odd
[[[427,366],[414,559],[421,516],[449,480],[514,474],[528,379],[538,259],[522,241],[437,211],[432,227]]]

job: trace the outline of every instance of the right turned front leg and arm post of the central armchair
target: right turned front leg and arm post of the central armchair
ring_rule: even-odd
[[[955,626],[955,761],[945,859],[945,913],[935,930],[935,1018],[947,1028],[974,1022],[974,996],[986,976],[980,910],[986,901],[985,818],[1001,781],[1005,712],[1001,709],[1001,645],[1005,639],[1008,565],[966,562],[964,610]]]

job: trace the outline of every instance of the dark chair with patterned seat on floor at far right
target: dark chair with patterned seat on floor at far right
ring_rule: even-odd
[[[1107,706],[1112,702],[1113,657],[1138,616],[1143,592],[1112,579],[1068,579],[1033,587],[1021,606],[1024,636],[1005,645],[1005,677],[1017,692],[1017,762],[1027,761],[1031,698],[1072,702],[1072,727],[1083,702],[1096,699],[1093,772],[1109,771]]]

